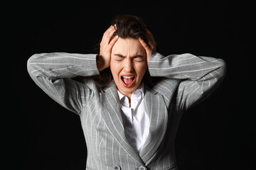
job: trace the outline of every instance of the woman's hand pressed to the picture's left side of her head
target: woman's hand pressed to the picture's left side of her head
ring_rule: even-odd
[[[97,68],[99,71],[110,67],[111,51],[114,43],[117,42],[118,36],[115,36],[111,41],[115,27],[110,26],[103,34],[102,41],[100,42],[100,56],[97,57]]]

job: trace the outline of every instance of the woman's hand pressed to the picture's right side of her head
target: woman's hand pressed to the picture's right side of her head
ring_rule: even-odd
[[[139,38],[139,42],[141,42],[142,46],[146,50],[146,62],[149,66],[149,60],[151,56],[154,55],[154,53],[156,52],[156,42],[154,41],[154,37],[149,30],[146,30],[146,33],[149,38],[149,45],[147,45],[146,42],[142,40],[142,38]]]

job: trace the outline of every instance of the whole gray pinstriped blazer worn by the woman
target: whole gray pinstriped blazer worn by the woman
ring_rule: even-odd
[[[114,81],[100,89],[92,79],[83,83],[71,79],[100,74],[96,55],[36,54],[28,60],[28,73],[48,96],[80,115],[87,145],[86,169],[177,169],[174,140],[181,115],[218,87],[225,62],[191,54],[164,57],[156,52],[151,57],[151,76],[167,79],[154,88],[145,85],[150,128],[140,153],[124,134]]]

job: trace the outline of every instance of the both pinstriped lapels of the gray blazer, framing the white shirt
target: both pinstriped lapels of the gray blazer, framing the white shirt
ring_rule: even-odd
[[[144,88],[144,99],[146,100],[146,108],[149,113],[150,127],[149,136],[140,154],[129,144],[124,133],[122,111],[118,104],[119,96],[113,80],[101,93],[102,104],[104,106],[102,116],[108,130],[110,130],[114,139],[119,142],[119,145],[122,146],[127,154],[140,164],[149,164],[153,160],[154,154],[164,137],[167,127],[168,112],[163,96],[154,89],[151,89],[147,84],[145,84]]]

